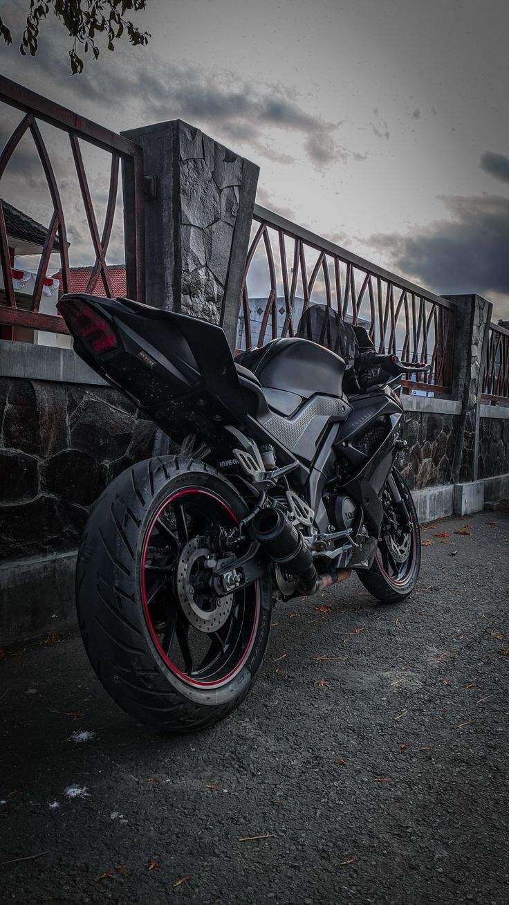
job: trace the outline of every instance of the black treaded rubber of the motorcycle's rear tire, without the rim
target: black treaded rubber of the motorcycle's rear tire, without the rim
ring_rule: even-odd
[[[203,462],[176,456],[137,462],[118,475],[90,511],[76,570],[80,631],[99,681],[139,722],[174,733],[205,729],[223,719],[256,679],[255,673],[247,689],[224,704],[201,704],[174,689],[156,662],[137,599],[136,551],[153,500],[183,472],[217,476]]]

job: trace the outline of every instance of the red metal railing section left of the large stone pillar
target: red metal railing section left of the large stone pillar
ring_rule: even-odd
[[[25,134],[30,134],[33,144],[42,164],[42,170],[52,200],[52,218],[48,226],[46,238],[42,246],[42,253],[34,280],[32,298],[29,300],[28,310],[26,304],[23,308],[19,305],[13,286],[12,262],[10,260],[7,242],[5,216],[0,204],[0,266],[4,278],[4,295],[0,298],[0,325],[31,327],[33,329],[50,330],[55,333],[66,333],[67,329],[60,317],[42,314],[39,310],[41,303],[42,287],[46,277],[46,270],[50,261],[50,255],[55,247],[60,254],[61,282],[63,291],[71,288],[71,275],[69,266],[69,252],[67,242],[67,230],[64,210],[61,203],[61,195],[52,166],[51,155],[42,138],[39,122],[49,123],[55,129],[67,132],[71,141],[72,158],[76,172],[77,183],[85,208],[85,214],[90,230],[90,239],[95,254],[95,262],[90,270],[90,279],[87,290],[93,294],[100,280],[108,298],[113,296],[108,277],[108,265],[106,254],[111,237],[115,205],[118,197],[118,168],[122,163],[123,189],[124,189],[124,234],[127,261],[127,295],[139,301],[144,300],[144,176],[142,150],[134,142],[115,132],[104,129],[89,119],[77,116],[71,110],[42,98],[31,90],[25,89],[10,79],[0,76],[0,110],[3,105],[9,105],[17,110],[22,110],[24,118],[14,129],[14,132],[5,142],[0,153],[0,196],[2,195],[2,176],[5,167],[13,157],[21,139]],[[5,108],[4,108],[5,109]],[[88,142],[97,148],[109,153],[111,157],[108,201],[106,215],[102,231],[99,232],[94,206],[90,195],[90,187],[83,166],[80,142]],[[55,246],[55,242],[58,243]],[[25,297],[26,299],[26,297]]]

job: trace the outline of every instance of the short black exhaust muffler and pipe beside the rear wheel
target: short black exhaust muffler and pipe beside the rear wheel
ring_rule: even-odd
[[[319,576],[302,534],[281,510],[259,510],[251,521],[250,534],[272,562],[278,563],[288,575],[297,576],[297,591],[303,597],[350,576],[349,569],[342,569],[335,576]]]

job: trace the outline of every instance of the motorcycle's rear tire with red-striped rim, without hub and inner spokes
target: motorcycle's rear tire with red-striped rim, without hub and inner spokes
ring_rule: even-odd
[[[202,494],[195,498],[195,510],[216,507],[213,511],[224,510],[224,519],[231,517],[231,523],[248,514],[246,503],[231,482],[203,462],[183,456],[137,462],[109,484],[91,510],[76,571],[80,632],[99,681],[134,719],[173,733],[212,726],[244,700],[269,642],[272,606],[269,570],[255,586],[236,592],[244,595],[240,598],[243,611],[242,604],[236,603],[239,598],[232,595],[231,612],[240,614],[236,616],[240,619],[236,637],[238,634],[239,644],[244,644],[246,651],[230,678],[225,667],[221,681],[196,681],[192,670],[186,675],[186,668],[179,671],[170,662],[170,648],[166,656],[146,605],[145,557],[157,513],[163,511],[167,500],[171,502],[177,496],[182,511],[185,494]],[[178,609],[173,582],[173,578],[168,580],[163,604]],[[243,622],[248,612],[252,628]],[[183,619],[182,607],[174,618],[175,624],[177,618]],[[189,628],[192,633],[196,631],[188,626],[187,636]],[[249,638],[249,643],[244,638]],[[207,640],[198,636],[200,644]],[[225,646],[230,650],[232,645]],[[207,656],[211,655],[207,654],[205,660]]]

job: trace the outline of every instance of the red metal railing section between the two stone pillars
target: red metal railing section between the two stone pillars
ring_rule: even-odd
[[[303,310],[321,302],[363,323],[380,352],[426,362],[405,381],[448,395],[456,305],[255,205],[237,346],[294,336]]]

